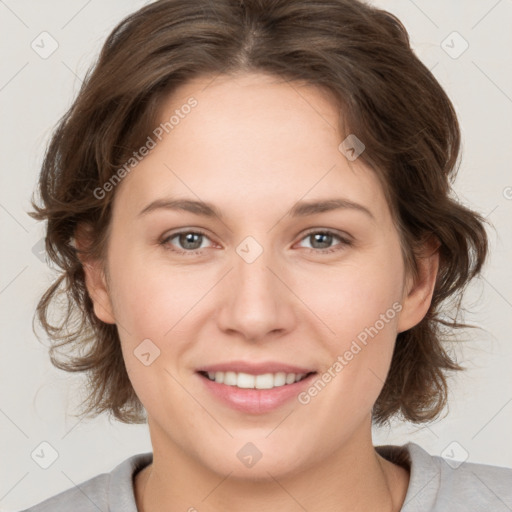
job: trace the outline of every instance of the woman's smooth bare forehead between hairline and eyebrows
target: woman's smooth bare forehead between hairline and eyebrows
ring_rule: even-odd
[[[376,176],[340,151],[340,114],[315,86],[255,73],[196,78],[162,104],[161,140],[152,135],[155,147],[118,186],[115,203],[135,214],[157,197],[186,196],[275,217],[300,199],[340,196],[382,215]]]

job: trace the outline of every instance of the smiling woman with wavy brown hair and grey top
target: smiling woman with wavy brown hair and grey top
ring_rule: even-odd
[[[460,369],[441,327],[487,237],[450,195],[459,146],[405,28],[366,4],[121,22],[43,163],[33,216],[63,273],[38,314],[82,345],[52,361],[88,373],[84,412],[147,420],[153,452],[29,510],[510,507],[512,470],[371,437],[438,417]]]

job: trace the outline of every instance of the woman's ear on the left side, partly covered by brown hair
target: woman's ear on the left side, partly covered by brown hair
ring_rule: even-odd
[[[115,324],[114,310],[110,299],[110,291],[103,268],[103,263],[84,252],[91,243],[89,226],[79,225],[75,231],[74,246],[78,250],[78,259],[82,263],[85,274],[85,286],[94,305],[94,314],[107,324]]]

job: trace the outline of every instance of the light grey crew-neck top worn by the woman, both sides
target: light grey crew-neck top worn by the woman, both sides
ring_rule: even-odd
[[[401,512],[512,511],[512,468],[469,462],[458,465],[430,455],[415,443],[377,446],[376,450],[410,468]],[[97,475],[22,512],[137,512],[133,478],[152,460],[151,452],[133,455],[110,473]]]

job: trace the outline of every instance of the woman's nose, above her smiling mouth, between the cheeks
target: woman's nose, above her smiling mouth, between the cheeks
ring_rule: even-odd
[[[224,279],[225,300],[219,311],[219,328],[251,342],[275,339],[294,329],[299,301],[286,284],[272,251],[252,262],[234,254],[233,268]]]

